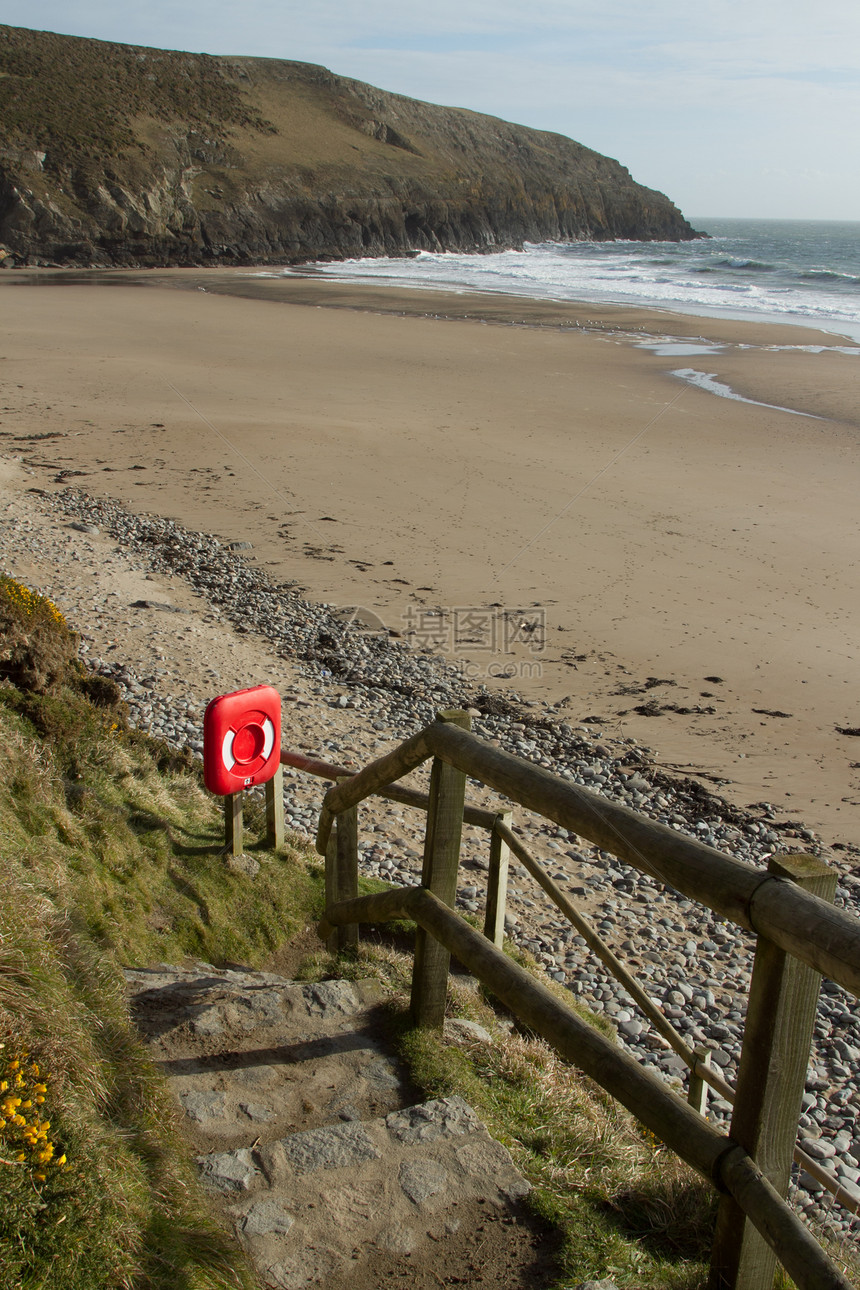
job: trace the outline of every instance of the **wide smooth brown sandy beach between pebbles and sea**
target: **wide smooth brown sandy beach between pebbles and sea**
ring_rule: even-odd
[[[843,339],[226,270],[6,273],[0,301],[0,452],[37,486],[249,542],[311,600],[860,842]]]

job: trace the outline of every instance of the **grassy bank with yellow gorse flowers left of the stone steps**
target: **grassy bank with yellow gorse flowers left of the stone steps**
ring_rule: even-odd
[[[260,964],[304,931],[322,875],[293,848],[260,850],[253,880],[231,872],[197,769],[129,731],[75,646],[55,606],[0,579],[3,1284],[251,1286],[130,1026],[121,968]]]

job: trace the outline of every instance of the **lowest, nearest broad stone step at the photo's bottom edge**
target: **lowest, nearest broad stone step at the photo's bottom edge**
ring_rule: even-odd
[[[529,1192],[460,1098],[213,1152],[199,1164],[226,1197],[264,1284],[279,1290],[355,1284],[380,1255],[436,1263],[440,1246],[509,1219]]]

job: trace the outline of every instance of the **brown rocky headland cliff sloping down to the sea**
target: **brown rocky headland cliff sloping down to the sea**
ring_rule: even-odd
[[[0,27],[0,258],[298,263],[525,240],[686,240],[557,134],[306,63]]]

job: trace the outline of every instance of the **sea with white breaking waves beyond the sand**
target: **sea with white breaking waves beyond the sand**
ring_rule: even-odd
[[[860,222],[691,218],[690,243],[530,243],[493,254],[306,264],[288,273],[794,322],[860,342]]]

